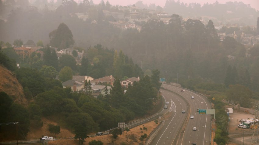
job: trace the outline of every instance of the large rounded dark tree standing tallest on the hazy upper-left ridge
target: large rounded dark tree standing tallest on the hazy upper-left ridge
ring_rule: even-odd
[[[58,29],[49,33],[51,46],[58,47],[59,49],[65,49],[75,43],[73,34],[68,26],[61,23]]]

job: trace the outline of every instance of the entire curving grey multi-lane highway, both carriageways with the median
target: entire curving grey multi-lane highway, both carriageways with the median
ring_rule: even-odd
[[[188,145],[197,143],[197,145],[210,145],[211,115],[199,114],[196,111],[197,108],[211,109],[211,103],[207,98],[189,90],[180,92],[183,89],[176,86],[162,84],[162,87],[164,89],[161,89],[161,94],[166,101],[170,100],[169,110],[166,114],[169,115],[169,119],[165,121],[165,125],[151,144]],[[191,99],[192,96],[194,99]],[[175,109],[171,107],[172,104]],[[186,113],[182,113],[183,109],[186,110]],[[190,118],[191,115],[194,116],[193,119]],[[197,130],[193,130],[193,127],[196,127]]]

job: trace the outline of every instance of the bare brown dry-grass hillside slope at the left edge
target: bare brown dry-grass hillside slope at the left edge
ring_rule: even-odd
[[[27,106],[28,101],[25,99],[23,87],[16,76],[2,65],[0,65],[0,74],[0,91],[11,96],[14,102]]]

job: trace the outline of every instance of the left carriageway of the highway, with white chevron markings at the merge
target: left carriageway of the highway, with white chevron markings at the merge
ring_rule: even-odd
[[[184,102],[183,99],[179,98],[174,93],[166,90],[161,90],[161,92],[166,100],[170,99],[170,104],[175,104],[176,110],[173,109],[173,105],[169,106],[169,113],[166,115],[170,115],[170,117],[169,119],[165,120],[165,125],[158,132],[151,144],[171,145],[172,142],[175,140],[178,131],[181,129],[182,123],[185,120],[186,113],[182,114],[182,110],[187,110],[187,104]]]

